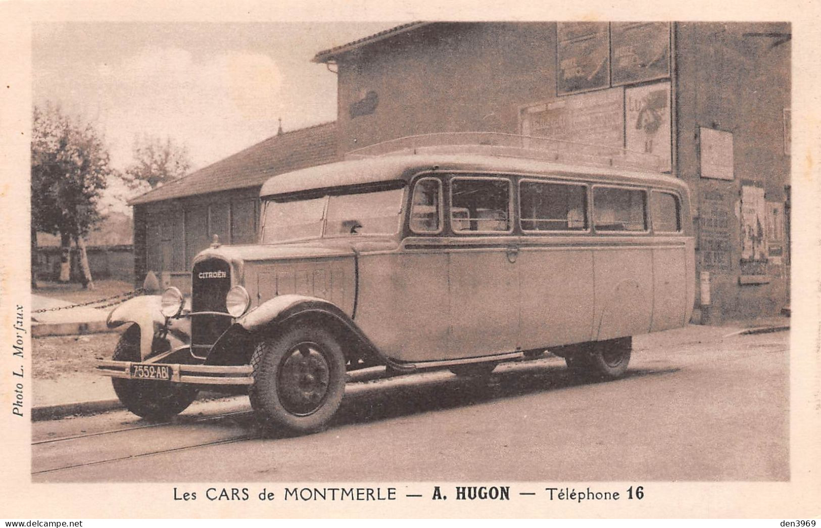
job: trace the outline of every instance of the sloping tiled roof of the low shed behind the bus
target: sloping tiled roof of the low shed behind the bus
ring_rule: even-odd
[[[336,122],[274,135],[245,150],[167,183],[129,204],[147,204],[209,192],[260,186],[269,177],[337,161]]]

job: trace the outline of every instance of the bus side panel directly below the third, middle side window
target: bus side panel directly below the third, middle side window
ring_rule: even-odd
[[[593,250],[522,244],[521,347],[589,341],[593,336]]]

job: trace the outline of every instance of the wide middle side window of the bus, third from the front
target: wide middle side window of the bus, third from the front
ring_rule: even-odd
[[[585,231],[587,189],[581,185],[522,181],[521,228],[525,231]]]

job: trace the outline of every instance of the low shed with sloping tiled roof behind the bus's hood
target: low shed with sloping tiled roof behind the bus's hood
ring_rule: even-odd
[[[131,200],[137,285],[153,271],[190,291],[194,256],[213,236],[223,244],[255,241],[259,188],[269,177],[336,161],[335,123],[279,133]]]

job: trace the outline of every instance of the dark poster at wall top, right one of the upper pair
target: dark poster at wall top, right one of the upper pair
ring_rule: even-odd
[[[669,22],[612,22],[612,85],[670,76]]]

